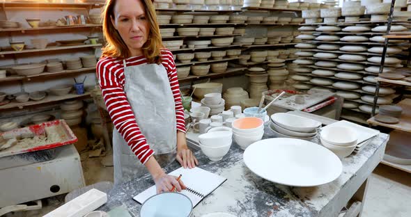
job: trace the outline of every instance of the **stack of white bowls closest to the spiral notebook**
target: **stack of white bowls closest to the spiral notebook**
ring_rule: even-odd
[[[208,156],[211,161],[219,161],[230,150],[233,143],[233,133],[231,131],[211,131],[199,136],[201,151]]]

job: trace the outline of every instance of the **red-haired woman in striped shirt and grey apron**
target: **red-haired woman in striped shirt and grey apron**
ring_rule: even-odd
[[[152,175],[157,193],[185,188],[162,166],[177,159],[194,168],[187,147],[176,65],[162,47],[150,0],[108,0],[104,10],[107,45],[97,65],[104,102],[114,123],[114,183]],[[140,161],[140,162],[138,162]]]

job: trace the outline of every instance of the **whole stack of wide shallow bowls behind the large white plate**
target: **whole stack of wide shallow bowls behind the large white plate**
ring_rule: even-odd
[[[319,127],[321,127],[320,122],[309,118],[288,113],[275,113],[271,115],[270,129],[279,138],[311,140],[316,138]]]

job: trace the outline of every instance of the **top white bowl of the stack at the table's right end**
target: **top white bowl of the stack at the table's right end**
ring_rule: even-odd
[[[357,134],[348,127],[326,127],[321,130],[320,136],[332,145],[346,147],[357,145]]]

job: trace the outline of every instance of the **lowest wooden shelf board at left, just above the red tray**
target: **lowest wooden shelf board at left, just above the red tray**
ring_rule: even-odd
[[[59,102],[63,101],[66,99],[77,99],[77,98],[82,98],[82,97],[91,97],[90,93],[84,93],[82,95],[77,95],[77,94],[68,94],[65,96],[54,96],[54,95],[47,95],[42,100],[39,101],[32,101],[30,100],[29,102],[10,102],[8,104],[5,104],[3,106],[0,106],[0,110],[6,110],[6,109],[23,109],[26,106],[35,106],[35,105],[40,105],[40,104],[47,104],[47,103],[52,103],[52,102]]]

